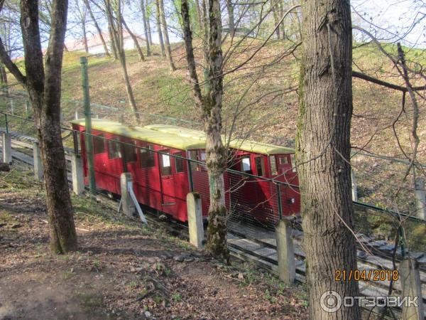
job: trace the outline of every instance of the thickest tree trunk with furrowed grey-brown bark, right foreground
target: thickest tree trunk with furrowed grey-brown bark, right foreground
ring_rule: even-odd
[[[349,1],[302,1],[297,164],[311,319],[360,319],[357,306],[327,313],[324,292],[358,296],[358,283],[335,281],[356,270],[351,233],[351,10]]]

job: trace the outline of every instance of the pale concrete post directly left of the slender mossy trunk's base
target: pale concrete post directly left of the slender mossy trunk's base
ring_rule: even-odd
[[[190,244],[202,249],[204,228],[202,228],[201,197],[197,192],[187,194],[188,227],[190,229]]]

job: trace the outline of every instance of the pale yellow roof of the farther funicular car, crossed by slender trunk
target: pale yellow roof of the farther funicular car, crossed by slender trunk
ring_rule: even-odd
[[[169,124],[150,124],[145,126],[146,129],[155,130],[168,134],[175,134],[182,138],[197,139],[205,142],[205,133],[200,130],[187,129]],[[223,138],[222,138],[223,139]],[[273,144],[264,144],[263,142],[254,142],[244,139],[233,139],[229,142],[229,147],[232,149],[254,152],[256,154],[293,154],[294,149],[286,148],[285,146],[274,146]]]

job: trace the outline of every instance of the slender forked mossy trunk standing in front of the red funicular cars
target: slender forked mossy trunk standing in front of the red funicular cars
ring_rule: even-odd
[[[219,0],[209,0],[209,90],[202,96],[195,68],[192,31],[187,0],[182,0],[182,22],[188,70],[194,88],[195,103],[200,107],[206,132],[206,166],[209,176],[210,206],[206,250],[220,260],[229,262],[226,244],[226,206],[224,170],[226,152],[222,144],[223,58],[222,21]]]

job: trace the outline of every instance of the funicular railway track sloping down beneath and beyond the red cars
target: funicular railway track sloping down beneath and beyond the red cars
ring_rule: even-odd
[[[1,130],[0,130],[1,131]],[[19,134],[12,134],[12,148],[13,148],[13,159],[23,161],[26,164],[33,165],[33,142],[34,139],[30,137],[23,137]],[[70,156],[69,152],[72,150],[66,149],[67,167],[70,170]],[[68,175],[69,180],[70,174]],[[107,193],[99,193],[99,200],[102,203],[108,203],[111,208],[117,201],[109,198]],[[154,212],[155,210],[144,210],[147,213],[146,219],[148,223],[152,225],[158,225],[161,228],[168,231],[168,233],[178,236],[178,238],[189,239],[187,225],[180,223],[177,220],[162,221],[158,218]],[[241,230],[251,230],[250,232],[243,233]],[[302,251],[301,239],[302,232],[295,230],[295,236],[293,236],[293,242],[295,246],[295,258],[296,258],[296,281],[305,282],[305,253]],[[250,262],[257,267],[261,267],[264,270],[268,270],[274,274],[278,273],[278,262],[276,255],[276,242],[275,234],[272,230],[262,228],[261,225],[253,225],[251,223],[235,225],[230,223],[229,225],[229,250],[231,255],[234,257]],[[374,245],[368,245],[365,243],[373,255],[366,255],[363,248],[359,246],[358,250],[358,268],[359,270],[393,270],[393,262],[391,255],[381,250],[378,250]],[[364,254],[363,254],[364,252]],[[425,260],[420,265],[420,279],[422,284],[422,301],[426,304],[426,252],[421,257]],[[396,262],[399,262],[396,260]],[[361,294],[365,296],[387,296],[388,295],[388,281],[377,281],[377,282],[363,282],[360,281]],[[394,282],[393,284],[393,295],[400,294],[400,283]],[[376,308],[377,309],[377,308]],[[380,310],[378,310],[380,312]],[[400,310],[395,308],[396,312]],[[424,319],[426,319],[426,311]]]

